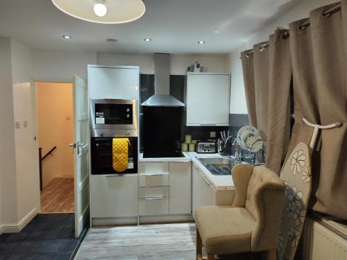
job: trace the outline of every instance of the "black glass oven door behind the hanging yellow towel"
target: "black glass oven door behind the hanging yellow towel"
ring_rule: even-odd
[[[117,137],[91,138],[92,175],[119,173],[112,167],[112,139]],[[128,137],[128,168],[119,174],[137,173],[138,154],[137,137]]]

